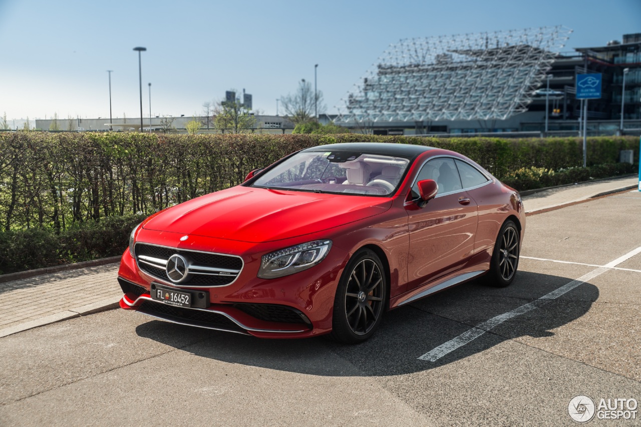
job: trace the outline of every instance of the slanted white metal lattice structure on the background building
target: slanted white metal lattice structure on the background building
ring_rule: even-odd
[[[390,45],[335,122],[504,120],[525,112],[571,29],[406,38]]]

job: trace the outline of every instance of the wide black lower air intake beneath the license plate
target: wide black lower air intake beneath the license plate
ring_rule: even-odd
[[[229,320],[228,317],[205,310],[193,310],[190,308],[176,307],[153,301],[143,301],[138,306],[138,311],[149,315],[158,315],[160,318],[169,321],[183,321],[193,326],[220,328],[226,331],[245,333],[245,330]]]

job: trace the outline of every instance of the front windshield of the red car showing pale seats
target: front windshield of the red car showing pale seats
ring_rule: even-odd
[[[251,187],[387,196],[401,182],[404,157],[348,151],[301,151],[265,172]]]

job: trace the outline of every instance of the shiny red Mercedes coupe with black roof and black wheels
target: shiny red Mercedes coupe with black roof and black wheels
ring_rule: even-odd
[[[361,342],[392,308],[481,275],[509,285],[524,230],[519,193],[453,151],[312,147],[139,224],[120,305],[256,337]]]

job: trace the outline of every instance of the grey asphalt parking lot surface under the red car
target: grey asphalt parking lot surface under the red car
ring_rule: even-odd
[[[574,396],[641,401],[639,212],[635,190],[529,216],[510,287],[417,301],[358,346],[124,310],[15,333],[0,425],[575,425]]]

